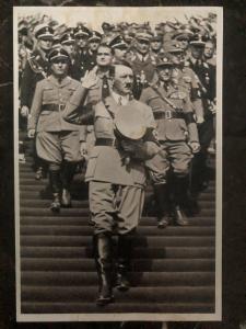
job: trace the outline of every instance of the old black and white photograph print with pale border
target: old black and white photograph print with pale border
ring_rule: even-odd
[[[220,321],[219,7],[15,7],[17,321]]]

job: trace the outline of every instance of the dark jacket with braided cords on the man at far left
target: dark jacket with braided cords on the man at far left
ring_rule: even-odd
[[[31,107],[36,83],[46,78],[48,68],[48,60],[40,50],[30,55],[22,75],[21,106]]]

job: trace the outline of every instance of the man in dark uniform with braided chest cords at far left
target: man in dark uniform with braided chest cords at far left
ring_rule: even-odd
[[[21,115],[24,117],[30,114],[36,83],[47,77],[48,53],[52,46],[54,31],[47,24],[39,24],[34,30],[34,36],[37,39],[37,46],[27,58],[21,81]],[[45,163],[36,156],[35,147],[33,152],[35,178],[39,180],[43,178]]]

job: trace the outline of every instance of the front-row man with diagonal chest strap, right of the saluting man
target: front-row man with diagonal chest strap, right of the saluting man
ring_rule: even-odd
[[[192,105],[187,90],[174,83],[173,66],[169,58],[163,56],[156,67],[159,81],[144,89],[140,98],[141,102],[152,107],[157,138],[162,146],[162,152],[147,161],[160,211],[160,228],[169,224],[173,214],[177,225],[188,225],[184,209],[187,202],[189,164],[192,152],[199,150]],[[168,177],[168,173],[172,175]],[[171,201],[174,207],[171,207]]]

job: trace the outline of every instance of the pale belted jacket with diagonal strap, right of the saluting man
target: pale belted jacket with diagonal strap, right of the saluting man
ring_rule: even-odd
[[[167,102],[163,98],[166,98]],[[190,120],[194,115],[191,102],[184,87],[169,84],[168,90],[165,90],[156,83],[143,90],[140,101],[152,107],[159,140],[199,140],[197,124]],[[175,115],[176,112],[181,113],[184,118],[160,117],[160,114],[165,114],[167,111],[171,115],[172,113]]]

